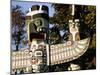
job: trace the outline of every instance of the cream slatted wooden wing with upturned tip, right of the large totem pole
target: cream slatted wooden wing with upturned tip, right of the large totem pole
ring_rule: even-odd
[[[50,46],[50,53],[47,54],[48,65],[61,64],[69,62],[82,56],[88,46],[90,38],[79,41],[68,41],[64,44],[56,44]]]

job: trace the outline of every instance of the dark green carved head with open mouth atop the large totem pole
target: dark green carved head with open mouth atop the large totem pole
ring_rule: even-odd
[[[29,42],[32,39],[44,39],[49,24],[48,7],[33,5],[26,14],[26,25]]]

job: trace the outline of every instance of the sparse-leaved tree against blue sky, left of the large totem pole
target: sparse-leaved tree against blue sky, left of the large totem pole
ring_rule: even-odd
[[[26,44],[25,15],[21,7],[16,5],[11,8],[11,43],[19,50],[19,46]]]

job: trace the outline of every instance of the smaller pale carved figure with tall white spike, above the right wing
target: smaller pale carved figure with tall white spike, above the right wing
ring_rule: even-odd
[[[79,19],[74,19],[75,15],[75,5],[72,5],[72,19],[69,20],[69,40],[70,41],[79,41],[80,40],[80,35],[79,35]]]

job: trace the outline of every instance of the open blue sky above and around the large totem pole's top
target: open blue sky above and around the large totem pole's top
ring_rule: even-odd
[[[31,8],[32,5],[46,5],[49,8],[49,16],[53,16],[55,10],[51,6],[52,3],[47,3],[47,2],[35,2],[35,1],[17,1],[17,0],[12,0],[11,5],[16,6],[19,5],[21,6],[22,11],[25,13],[26,11]]]

